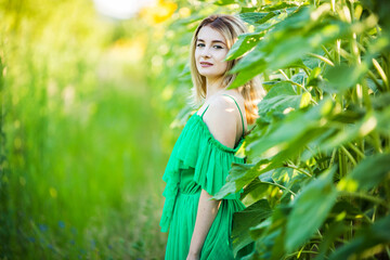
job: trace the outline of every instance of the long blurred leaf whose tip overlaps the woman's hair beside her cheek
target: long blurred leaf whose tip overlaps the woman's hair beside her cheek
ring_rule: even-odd
[[[232,83],[232,88],[242,86],[265,69],[275,70],[287,67],[322,44],[349,34],[350,26],[332,16],[322,21],[321,17],[326,16],[329,11],[328,8],[322,10],[323,12],[311,15],[313,10],[302,8],[278,23],[251,52],[233,67],[231,73],[239,74]],[[313,20],[314,16],[315,20]]]

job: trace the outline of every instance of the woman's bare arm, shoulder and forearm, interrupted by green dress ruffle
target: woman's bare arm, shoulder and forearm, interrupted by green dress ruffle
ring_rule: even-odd
[[[234,103],[230,98],[220,96],[210,104],[204,120],[220,143],[233,147],[236,140],[237,118],[234,115]],[[187,260],[199,259],[206,236],[217,217],[221,200],[209,200],[212,196],[202,190],[194,233],[191,239]]]

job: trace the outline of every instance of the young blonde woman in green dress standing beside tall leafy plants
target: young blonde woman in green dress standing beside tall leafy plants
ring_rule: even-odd
[[[234,90],[226,88],[236,64],[224,61],[238,35],[246,32],[232,15],[211,15],[195,30],[191,50],[194,98],[202,107],[188,119],[169,158],[162,180],[167,182],[160,220],[169,229],[166,259],[234,259],[233,213],[245,208],[238,192],[210,198],[225,183],[247,125],[257,117],[258,86],[251,80]]]

